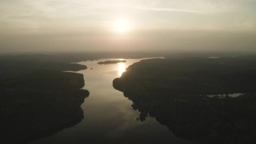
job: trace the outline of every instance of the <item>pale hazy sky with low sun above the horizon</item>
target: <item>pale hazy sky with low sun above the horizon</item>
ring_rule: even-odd
[[[255,47],[256,0],[0,0],[2,52]]]

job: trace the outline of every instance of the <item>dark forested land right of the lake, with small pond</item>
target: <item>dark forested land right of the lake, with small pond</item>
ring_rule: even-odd
[[[138,120],[154,117],[198,143],[256,142],[255,56],[151,59],[126,70],[113,86],[132,100]]]

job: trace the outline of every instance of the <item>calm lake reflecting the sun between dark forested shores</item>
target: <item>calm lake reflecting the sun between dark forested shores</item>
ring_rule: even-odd
[[[78,73],[84,74],[85,89],[90,92],[90,96],[81,106],[84,110],[82,122],[30,144],[190,143],[176,138],[166,126],[158,123],[155,118],[147,118],[145,122],[137,121],[136,118],[140,112],[132,109],[132,101],[112,87],[114,78],[120,77],[125,68],[142,59],[126,59],[126,63],[118,64],[97,64],[97,62],[106,60],[120,59],[101,59],[78,63],[88,67],[87,70],[81,70]]]

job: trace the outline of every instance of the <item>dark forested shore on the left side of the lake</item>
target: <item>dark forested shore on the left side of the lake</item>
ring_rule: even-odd
[[[89,96],[86,69],[60,62],[0,61],[0,123],[3,144],[20,144],[50,136],[78,124],[81,104]]]

